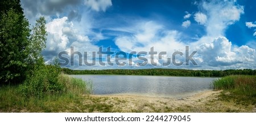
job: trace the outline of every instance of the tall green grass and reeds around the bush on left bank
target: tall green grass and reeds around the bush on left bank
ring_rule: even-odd
[[[24,84],[4,85],[0,87],[0,112],[59,112],[67,108],[69,104],[81,102],[81,95],[92,92],[92,83],[84,82],[81,79],[72,78],[60,74],[57,82],[63,85],[61,93],[47,93],[43,97],[24,96],[20,93]],[[64,105],[63,105],[64,104]]]

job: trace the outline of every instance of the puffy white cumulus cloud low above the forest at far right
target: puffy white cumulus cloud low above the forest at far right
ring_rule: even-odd
[[[218,37],[213,42],[197,47],[203,63],[208,66],[232,66],[241,63],[255,63],[255,49],[243,45],[232,49],[232,42],[226,37]]]

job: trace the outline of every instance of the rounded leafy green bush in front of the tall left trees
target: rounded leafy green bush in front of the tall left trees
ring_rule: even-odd
[[[63,93],[65,85],[58,82],[60,69],[51,65],[35,67],[34,72],[28,77],[20,88],[22,95],[31,97],[44,97],[53,93]]]

